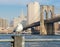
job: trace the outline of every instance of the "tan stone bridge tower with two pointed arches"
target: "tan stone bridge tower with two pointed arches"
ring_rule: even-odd
[[[54,18],[54,6],[48,6],[48,5],[40,6],[40,34],[41,35],[53,34],[54,24],[52,23],[44,24],[44,20],[49,19],[49,12],[50,12],[50,19]],[[45,16],[46,19],[44,19],[44,15],[46,15]]]

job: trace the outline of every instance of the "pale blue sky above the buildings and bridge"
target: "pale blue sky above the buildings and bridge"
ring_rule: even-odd
[[[27,4],[37,1],[40,5],[54,5],[55,13],[60,14],[60,0],[0,0],[0,18],[13,20],[18,17],[23,9],[24,15],[27,15]]]

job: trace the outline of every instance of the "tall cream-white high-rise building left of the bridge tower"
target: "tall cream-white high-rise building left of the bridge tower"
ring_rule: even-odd
[[[27,20],[28,24],[40,20],[40,5],[38,2],[31,2],[27,5]]]

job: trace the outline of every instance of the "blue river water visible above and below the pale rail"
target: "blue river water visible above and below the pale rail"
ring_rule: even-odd
[[[15,34],[0,34],[0,39],[11,39],[11,36]],[[19,36],[24,36],[26,39],[60,39],[59,35],[28,35],[19,34]],[[0,42],[0,47],[11,47],[11,42]],[[60,47],[59,42],[25,42],[25,47]]]

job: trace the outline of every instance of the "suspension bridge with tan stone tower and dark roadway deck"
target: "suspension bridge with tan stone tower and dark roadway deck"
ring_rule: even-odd
[[[46,13],[45,15],[45,18],[44,19],[44,12]],[[49,18],[49,12],[50,12],[50,18]],[[40,7],[40,21],[37,21],[35,23],[32,23],[30,25],[27,25],[26,27],[23,28],[23,30],[26,30],[28,28],[31,28],[32,27],[36,27],[36,28],[39,28],[37,30],[40,31],[40,34],[41,35],[53,35],[54,34],[54,23],[55,22],[59,22],[60,21],[60,17],[57,16],[55,17],[54,15],[54,6],[44,6],[44,5],[41,5]],[[40,27],[38,27],[40,26]]]

